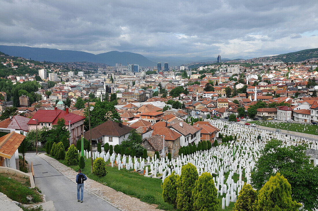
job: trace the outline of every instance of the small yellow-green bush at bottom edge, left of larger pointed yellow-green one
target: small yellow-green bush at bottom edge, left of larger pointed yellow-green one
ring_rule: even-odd
[[[257,200],[257,191],[250,184],[244,183],[242,190],[239,192],[238,199],[233,211],[253,211],[253,204]]]

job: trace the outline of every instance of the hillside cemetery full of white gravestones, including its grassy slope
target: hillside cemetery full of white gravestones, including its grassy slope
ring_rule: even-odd
[[[220,134],[237,136],[237,140],[221,143],[210,150],[181,155],[171,161],[168,160],[168,157],[158,158],[156,155],[144,159],[130,155],[115,155],[115,153],[110,155],[109,151],[107,153],[105,151],[94,152],[93,160],[102,158],[107,165],[108,174],[104,177],[88,173],[91,167],[89,159],[91,153],[84,150],[86,157],[84,172],[91,179],[117,191],[140,198],[150,204],[158,204],[159,208],[170,210],[173,207],[162,200],[161,184],[172,172],[181,175],[182,166],[191,163],[196,167],[199,176],[204,172],[212,175],[220,201],[220,210],[231,210],[244,182],[250,184],[255,162],[260,157],[260,152],[267,141],[277,139],[282,141],[283,146],[307,143],[309,148],[318,149],[317,140],[309,141],[294,135],[284,135],[218,119],[209,121],[221,130]],[[317,164],[316,158],[313,163]],[[72,166],[70,167],[72,168]],[[73,169],[76,168],[78,167]]]

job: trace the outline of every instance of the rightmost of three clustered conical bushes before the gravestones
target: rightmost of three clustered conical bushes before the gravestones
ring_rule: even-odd
[[[210,173],[204,172],[198,177],[192,191],[194,210],[219,210],[217,188]]]

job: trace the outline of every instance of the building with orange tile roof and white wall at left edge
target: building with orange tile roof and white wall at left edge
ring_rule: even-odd
[[[0,137],[0,166],[19,170],[18,147],[24,138],[14,131]]]

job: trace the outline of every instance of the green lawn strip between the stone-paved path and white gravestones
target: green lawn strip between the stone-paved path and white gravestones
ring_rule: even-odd
[[[54,158],[54,156],[51,157]],[[66,165],[64,160],[59,160],[59,162]],[[109,165],[109,162],[106,164]],[[73,168],[75,171],[78,171],[79,169],[78,165],[69,167]],[[108,174],[104,177],[93,175],[91,173],[91,160],[86,159],[85,168],[82,169],[82,173],[90,179],[98,181],[101,184],[120,191],[126,195],[136,197],[149,204],[157,204],[159,209],[174,210],[171,204],[164,202],[162,199],[162,180],[145,177],[135,172],[128,172],[125,168],[118,170],[118,167],[112,168],[110,166],[106,166],[106,170],[108,171]],[[220,210],[222,210],[222,197],[219,196],[219,199]],[[225,207],[225,211],[230,211],[233,207],[234,203],[230,202],[229,207]]]

